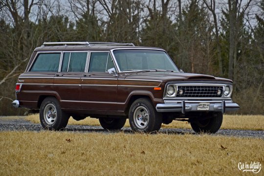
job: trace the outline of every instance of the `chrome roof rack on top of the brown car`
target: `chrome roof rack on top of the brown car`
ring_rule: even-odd
[[[117,45],[117,46],[135,46],[134,44],[125,44],[125,43],[111,43],[111,42],[44,42],[42,44],[42,46],[46,46],[46,45]]]

